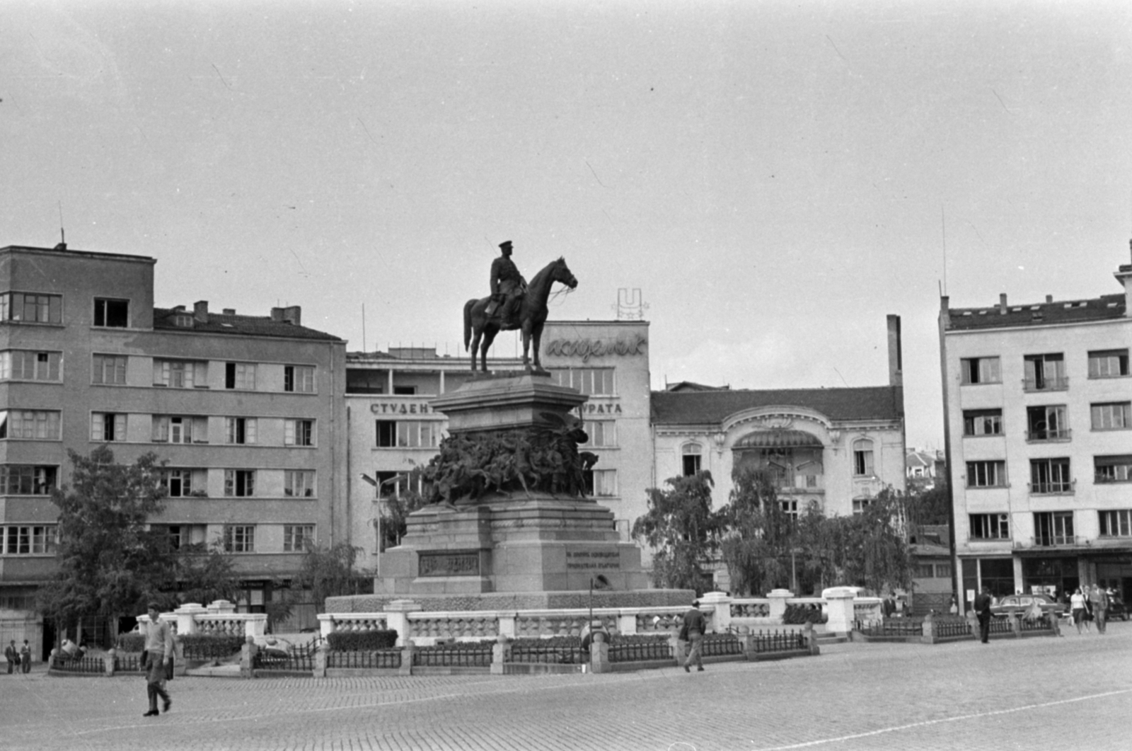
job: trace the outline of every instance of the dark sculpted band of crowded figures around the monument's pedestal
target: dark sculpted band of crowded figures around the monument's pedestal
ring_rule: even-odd
[[[598,456],[578,452],[577,444],[584,443],[586,435],[576,421],[565,423],[550,413],[544,417],[560,425],[458,434],[441,441],[439,453],[422,472],[429,503],[475,501],[491,490],[584,496],[584,472]]]

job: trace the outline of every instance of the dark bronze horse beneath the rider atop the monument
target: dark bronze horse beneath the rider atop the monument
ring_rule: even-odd
[[[475,372],[477,351],[480,355],[480,369],[487,373],[488,349],[490,349],[491,342],[495,341],[496,334],[500,331],[511,331],[514,328],[523,330],[523,365],[526,366],[528,370],[531,369],[530,349],[531,340],[533,339],[534,369],[542,369],[542,362],[539,359],[539,347],[542,343],[542,324],[547,322],[547,300],[550,298],[550,287],[555,282],[565,284],[571,289],[577,287],[577,280],[574,279],[574,274],[571,273],[566,261],[561,257],[558,261],[551,261],[547,264],[526,285],[526,293],[523,296],[523,300],[518,307],[517,326],[503,325],[499,316],[499,309],[503,306],[497,306],[495,314],[488,317],[486,310],[488,302],[491,301],[490,297],[479,300],[472,299],[464,305],[464,349],[470,350],[472,353],[473,373]],[[472,338],[473,331],[475,332],[474,339]],[[481,338],[483,340],[482,345],[480,344]],[[469,343],[471,344],[469,345]]]

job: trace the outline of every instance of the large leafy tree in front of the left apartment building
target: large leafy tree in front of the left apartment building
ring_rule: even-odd
[[[106,446],[68,455],[71,486],[51,496],[59,506],[58,567],[38,592],[38,607],[60,624],[105,618],[115,634],[120,615],[144,611],[173,579],[174,556],[147,529],[163,510],[161,467],[153,453],[117,463]]]

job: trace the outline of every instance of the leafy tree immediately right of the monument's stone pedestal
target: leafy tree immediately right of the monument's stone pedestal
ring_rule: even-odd
[[[711,472],[674,477],[664,485],[666,489],[649,488],[649,511],[633,522],[633,537],[655,551],[657,587],[703,592],[703,569],[719,548],[723,521],[711,509]]]

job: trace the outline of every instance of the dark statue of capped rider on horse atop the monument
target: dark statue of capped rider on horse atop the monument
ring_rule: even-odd
[[[472,372],[475,372],[475,355],[480,355],[480,369],[488,372],[488,349],[500,331],[523,331],[523,365],[531,366],[531,340],[534,341],[534,370],[542,369],[539,348],[542,342],[542,325],[547,322],[547,300],[555,282],[569,289],[577,287],[564,258],[552,261],[531,280],[530,284],[518,273],[511,259],[511,240],[499,245],[501,255],[491,262],[491,297],[472,299],[464,305],[464,349],[472,353]],[[474,336],[472,335],[474,332]],[[482,344],[481,344],[482,340]]]

